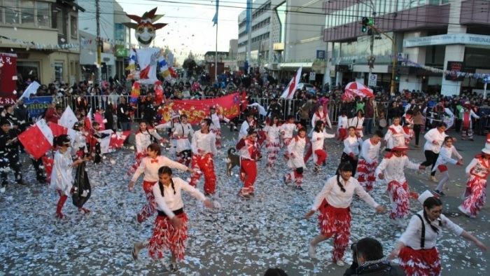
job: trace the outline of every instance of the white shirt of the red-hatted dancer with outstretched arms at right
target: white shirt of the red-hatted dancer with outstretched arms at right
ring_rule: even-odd
[[[395,156],[393,153],[388,153],[384,156],[381,163],[379,163],[374,175],[378,176],[378,174],[382,172],[384,174],[384,179],[386,179],[386,183],[396,181],[402,184],[407,181],[403,169],[406,167],[411,170],[419,170],[419,166],[419,164],[415,164],[408,160],[408,156],[405,153],[402,153],[402,156],[400,157]]]

